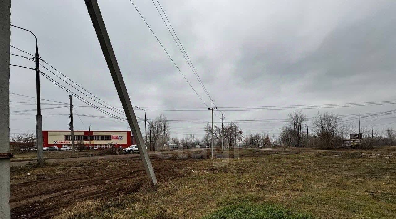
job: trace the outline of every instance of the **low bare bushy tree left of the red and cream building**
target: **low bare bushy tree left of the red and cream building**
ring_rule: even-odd
[[[36,134],[34,132],[27,131],[10,137],[10,148],[11,150],[19,152],[28,152],[33,150],[36,145]]]

